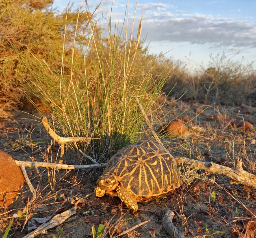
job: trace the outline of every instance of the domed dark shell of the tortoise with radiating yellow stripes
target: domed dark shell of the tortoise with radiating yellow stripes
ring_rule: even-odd
[[[147,201],[182,184],[173,156],[157,142],[142,140],[110,158],[104,173],[116,175],[121,186]]]

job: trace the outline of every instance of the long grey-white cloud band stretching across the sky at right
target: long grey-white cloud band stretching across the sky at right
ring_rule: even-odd
[[[163,13],[164,14],[164,13]],[[152,24],[150,17],[144,18],[142,33],[147,34],[150,41],[190,42],[192,44],[213,43],[215,45],[232,45],[233,47],[256,47],[256,24],[230,20],[226,18],[214,18],[211,15],[185,17],[173,17],[162,19],[159,12],[153,12]]]

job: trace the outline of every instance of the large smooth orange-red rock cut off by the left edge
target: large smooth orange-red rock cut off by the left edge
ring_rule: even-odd
[[[9,206],[23,187],[25,178],[14,159],[0,151],[0,206]]]

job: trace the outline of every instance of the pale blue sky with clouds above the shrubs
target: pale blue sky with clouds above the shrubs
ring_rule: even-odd
[[[73,0],[74,8],[85,1]],[[107,1],[106,1],[107,2]],[[54,0],[63,10],[68,0]],[[99,1],[87,1],[93,12]],[[112,1],[108,1],[110,6]],[[127,1],[113,1],[112,20],[123,22]],[[132,20],[136,1],[129,1]],[[138,0],[135,27],[142,13],[142,34],[152,53],[167,52],[167,57],[181,60],[188,68],[207,65],[209,55],[225,54],[256,69],[256,1],[146,1]],[[105,5],[102,7],[104,12]],[[236,53],[239,54],[236,55]],[[189,59],[189,60],[188,60]]]

